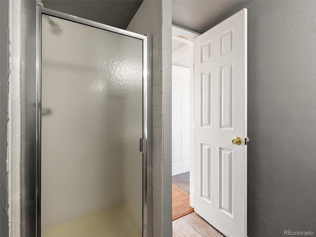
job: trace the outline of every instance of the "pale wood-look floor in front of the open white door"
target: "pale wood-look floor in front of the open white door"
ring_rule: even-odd
[[[197,213],[192,212],[172,222],[172,237],[224,237]]]

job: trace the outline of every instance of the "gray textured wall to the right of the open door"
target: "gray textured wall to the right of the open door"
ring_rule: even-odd
[[[316,1],[248,9],[248,236],[316,233]]]

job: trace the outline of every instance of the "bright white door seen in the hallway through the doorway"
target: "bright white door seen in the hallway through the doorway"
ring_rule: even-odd
[[[190,171],[190,69],[172,66],[172,175]]]

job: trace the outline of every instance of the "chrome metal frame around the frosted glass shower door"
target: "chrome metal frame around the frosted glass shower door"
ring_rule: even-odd
[[[22,105],[25,108],[25,118],[22,118],[26,124],[24,129],[25,139],[32,137],[32,142],[26,142],[26,148],[22,151],[21,163],[28,163],[31,166],[30,169],[21,169],[21,236],[22,237],[40,237],[40,160],[41,160],[41,19],[42,14],[62,18],[79,24],[91,26],[94,28],[111,31],[124,36],[136,38],[143,40],[143,237],[149,236],[149,208],[148,208],[148,187],[147,187],[147,173],[148,173],[148,155],[147,155],[147,81],[149,77],[149,36],[139,35],[133,32],[101,24],[98,22],[90,21],[66,13],[54,11],[51,9],[44,8],[36,3],[36,9],[34,0],[24,1],[25,8],[22,12],[22,17],[25,17],[26,22],[22,25],[22,41],[24,47],[22,48],[22,68],[25,72],[22,73],[22,85],[26,84],[22,88],[22,95],[25,95],[26,102]],[[34,15],[36,13],[36,19]],[[29,23],[34,23],[36,20],[36,32],[35,27],[30,26]],[[36,35],[36,36],[35,36]],[[30,50],[34,48],[36,40],[36,56],[34,52]],[[30,46],[31,49],[28,49]],[[29,54],[32,54],[31,56]],[[34,58],[36,60],[34,61]],[[23,62],[25,61],[25,63]],[[36,70],[36,71],[34,71]],[[30,78],[30,76],[35,76],[36,80]],[[35,83],[34,83],[35,82]],[[36,88],[34,88],[34,86]],[[34,88],[36,91],[36,96],[29,96],[28,93],[32,93],[34,89],[30,92],[29,89]],[[29,98],[30,97],[30,98]],[[22,98],[23,99],[23,98]],[[34,101],[35,100],[35,101]],[[35,106],[35,108],[34,108]],[[32,107],[32,108],[31,108]],[[34,112],[36,113],[34,115]],[[23,117],[23,115],[22,115]],[[36,121],[34,122],[34,118]],[[25,120],[24,120],[25,119]],[[32,120],[30,122],[30,119]],[[34,127],[35,125],[35,127]],[[21,140],[22,141],[22,140]],[[32,151],[32,152],[30,152]],[[35,157],[36,159],[35,159]],[[27,159],[29,161],[27,161]],[[36,170],[36,172],[32,172]],[[26,192],[26,190],[31,189],[31,194]],[[23,192],[25,191],[25,192]],[[24,193],[26,193],[24,195]],[[23,209],[25,208],[25,209]],[[30,211],[31,210],[31,211]],[[36,223],[33,223],[36,222]]]

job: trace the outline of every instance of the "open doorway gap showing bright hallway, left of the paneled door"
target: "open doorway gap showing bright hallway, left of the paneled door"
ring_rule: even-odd
[[[177,29],[173,27],[173,31]],[[190,82],[193,41],[172,36],[172,220],[194,211],[190,206]]]

